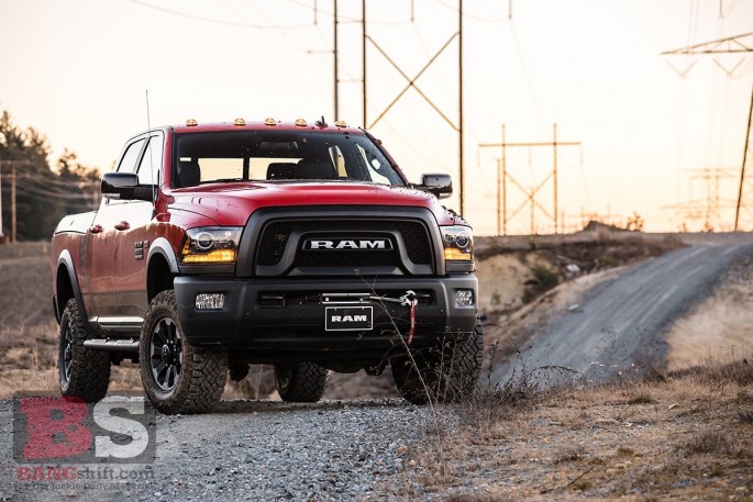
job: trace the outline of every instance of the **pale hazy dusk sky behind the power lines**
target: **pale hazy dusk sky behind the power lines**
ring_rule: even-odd
[[[501,141],[557,150],[558,220],[698,230],[718,186],[717,230],[734,221],[753,54],[662,52],[753,32],[753,0],[466,0],[465,216],[497,232]],[[315,5],[315,9],[314,9]],[[412,181],[458,176],[457,2],[339,0],[340,115],[370,126]],[[333,0],[0,0],[0,110],[102,171],[126,138],[185,122],[333,121]],[[751,41],[753,38],[749,38]],[[433,107],[408,89],[416,80]],[[384,54],[383,54],[384,53]],[[388,56],[392,59],[389,63]],[[396,68],[399,68],[400,71]],[[684,74],[680,75],[680,74]],[[508,233],[553,231],[551,147],[507,149]],[[753,164],[752,164],[753,165]],[[721,168],[718,185],[706,176]],[[723,176],[722,176],[723,175]],[[716,175],[715,175],[716,176]],[[527,192],[540,187],[530,210]],[[711,190],[711,191],[709,191]],[[753,193],[750,204],[753,207]],[[457,191],[449,205],[458,209]],[[688,213],[688,210],[689,213]],[[753,217],[746,230],[753,228]]]

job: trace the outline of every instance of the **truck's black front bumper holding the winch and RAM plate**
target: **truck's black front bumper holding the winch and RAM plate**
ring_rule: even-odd
[[[345,298],[342,293],[396,299],[408,290],[419,295],[412,346],[433,345],[447,335],[462,339],[473,332],[476,305],[458,306],[455,300],[455,291],[472,290],[475,303],[477,280],[469,274],[372,280],[206,276],[175,279],[178,316],[191,345],[247,350],[256,354],[258,361],[268,362],[286,358],[378,358],[407,338],[410,306],[376,299],[353,300],[355,297]],[[196,309],[198,293],[223,293],[223,308]],[[370,306],[372,328],[326,331],[326,308],[334,306]]]

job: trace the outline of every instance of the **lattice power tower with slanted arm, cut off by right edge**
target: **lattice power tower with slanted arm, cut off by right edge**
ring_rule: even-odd
[[[753,53],[753,33],[745,33],[743,35],[730,36],[727,38],[719,38],[711,42],[704,42],[701,44],[690,45],[687,47],[680,47],[673,51],[665,51],[662,53],[663,56],[676,56],[676,55],[716,55],[716,54],[749,54]],[[734,72],[734,70],[740,66],[739,62],[732,70],[729,70],[722,66],[718,59],[715,58],[715,63],[719,66],[728,77]],[[690,65],[691,67],[693,65]],[[688,67],[685,72],[680,72],[680,76],[685,77],[685,74],[690,69]],[[674,68],[674,66],[673,66]],[[675,68],[676,70],[676,68]],[[753,88],[752,88],[753,89]],[[753,90],[751,92],[751,105],[748,112],[748,131],[745,133],[745,146],[743,147],[742,166],[740,168],[740,183],[738,187],[738,202],[734,211],[734,230],[735,232],[740,230],[741,217],[740,213],[743,212],[744,215],[753,220],[753,212],[751,207],[753,205],[753,133],[751,132],[753,121]]]

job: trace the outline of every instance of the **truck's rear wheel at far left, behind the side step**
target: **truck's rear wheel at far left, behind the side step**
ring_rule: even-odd
[[[57,367],[60,393],[92,403],[104,398],[110,383],[110,354],[84,346],[89,338],[75,299],[60,316]]]

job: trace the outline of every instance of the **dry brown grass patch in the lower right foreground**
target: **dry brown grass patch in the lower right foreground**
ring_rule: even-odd
[[[751,500],[753,368],[487,391],[443,409],[392,493],[444,500]],[[500,391],[498,391],[500,392]]]

